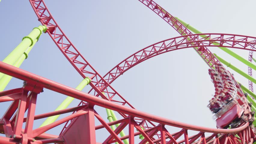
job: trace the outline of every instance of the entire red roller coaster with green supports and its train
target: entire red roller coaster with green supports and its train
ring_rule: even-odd
[[[172,16],[155,1],[139,0],[139,3],[160,16],[180,36],[157,42],[135,52],[103,76],[64,34],[44,0],[29,0],[29,2],[41,26],[34,28],[0,62],[0,102],[11,102],[0,119],[0,132],[5,135],[0,137],[0,143],[134,144],[136,137],[139,139],[139,144],[252,144],[256,141],[254,130],[256,95],[253,93],[253,83],[256,80],[252,77],[252,69],[256,70],[256,66],[252,64],[253,52],[256,51],[256,37],[201,33],[181,19]],[[77,88],[71,88],[19,68],[42,33],[48,33],[62,55],[82,76],[83,80]],[[212,53],[208,47],[219,47],[248,65],[248,74]],[[194,49],[209,66],[209,79],[212,79],[215,94],[209,101],[208,107],[216,119],[217,128],[186,124],[136,110],[111,86],[120,75],[137,64],[166,52],[186,48]],[[248,50],[248,60],[227,48]],[[237,82],[236,76],[226,70],[223,64],[247,78],[249,89]],[[12,77],[23,80],[23,85],[5,90]],[[81,91],[85,86],[90,87],[87,93]],[[68,97],[55,111],[35,115],[36,105],[40,103],[37,97],[44,90]],[[76,107],[67,108],[74,99],[81,102]],[[106,109],[107,120],[97,113],[96,106]],[[118,113],[118,116],[115,116],[115,113]],[[67,115],[58,119],[61,114]],[[44,118],[47,119],[39,128],[33,127],[35,120]],[[96,120],[99,125],[96,125]],[[59,125],[64,125],[59,135],[48,133]],[[173,131],[169,128],[179,130]],[[99,134],[97,130],[104,130],[106,133]],[[106,138],[96,141],[96,137],[101,135]]]

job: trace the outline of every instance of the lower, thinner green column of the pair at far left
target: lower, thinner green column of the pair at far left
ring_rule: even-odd
[[[38,39],[34,40],[34,43],[32,46],[29,46],[29,48],[20,56],[20,58],[13,64],[14,67],[20,67],[20,65],[23,63],[23,61],[28,57],[29,52],[31,51],[31,49],[33,48],[33,46],[35,45],[35,43],[38,41]],[[5,89],[5,87],[8,85],[8,83],[11,80],[11,76],[8,75],[4,75],[2,76],[2,78],[0,79],[0,91],[3,91]]]

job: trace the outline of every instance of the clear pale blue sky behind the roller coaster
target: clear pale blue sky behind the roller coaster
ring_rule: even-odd
[[[170,14],[201,32],[256,37],[255,1],[155,1]],[[64,33],[102,76],[134,52],[180,36],[163,19],[136,0],[45,0],[45,3]],[[3,60],[24,36],[41,23],[28,0],[2,0],[0,13],[0,59]],[[209,49],[247,73],[246,65],[218,48]],[[232,50],[248,59],[249,51]],[[20,68],[73,88],[82,80],[48,34],[41,35]],[[214,94],[208,68],[192,48],[182,49],[138,64],[111,85],[138,110],[179,122],[216,128],[212,113],[206,107]],[[248,87],[247,79],[233,73],[239,82]],[[255,71],[253,73],[255,75]],[[6,89],[21,86],[22,81],[12,79]],[[87,86],[83,91],[88,92],[89,88]],[[65,98],[45,89],[38,96],[36,114],[53,111]],[[79,100],[75,100],[70,107],[78,103]],[[9,104],[1,104],[1,115]],[[104,109],[95,109],[107,120]],[[38,128],[43,121],[36,120],[34,128]],[[62,127],[48,133],[59,134]],[[170,132],[174,130],[169,129]],[[97,137],[98,142],[101,140],[101,137]]]

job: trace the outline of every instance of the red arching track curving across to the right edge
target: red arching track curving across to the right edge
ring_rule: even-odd
[[[201,38],[199,35],[206,35]],[[187,41],[187,38],[193,36],[193,42]],[[252,39],[250,41],[250,39]],[[103,76],[108,83],[112,83],[118,76],[122,75],[126,70],[134,67],[135,65],[145,61],[154,56],[160,55],[165,52],[184,49],[196,46],[216,46],[218,47],[230,47],[237,49],[250,50],[249,47],[253,47],[251,51],[256,51],[256,41],[254,37],[231,35],[231,34],[194,34],[185,35],[176,38],[170,38],[158,43],[152,44],[139,50],[138,52],[130,55],[128,58],[121,61],[114,68],[112,68],[107,74]],[[201,49],[203,51],[203,49]],[[101,79],[99,80],[101,82]],[[91,90],[90,90],[91,91]]]

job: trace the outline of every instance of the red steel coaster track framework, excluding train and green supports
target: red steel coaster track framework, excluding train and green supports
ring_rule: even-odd
[[[30,0],[31,5],[38,16],[38,20],[48,27],[47,33],[53,39],[61,52],[83,78],[88,76],[90,79],[92,79],[92,82],[90,83],[92,89],[89,91],[90,94],[86,94],[0,62],[0,72],[26,81],[22,88],[3,91],[0,93],[0,102],[13,101],[0,121],[0,130],[5,132],[6,136],[10,138],[1,137],[0,142],[72,143],[74,140],[76,140],[77,143],[96,143],[95,130],[105,128],[110,134],[103,143],[123,143],[121,140],[129,138],[129,142],[132,144],[134,143],[134,136],[139,134],[142,134],[145,137],[145,139],[140,143],[148,142],[177,144],[185,142],[185,144],[189,144],[194,143],[197,139],[199,139],[198,143],[253,143],[255,135],[251,128],[248,127],[248,123],[236,129],[226,130],[205,128],[172,121],[135,110],[131,104],[129,104],[120,94],[117,93],[117,91],[114,90],[114,88],[111,87],[109,83],[113,82],[126,70],[142,61],[145,61],[148,58],[168,51],[193,47],[210,67],[214,67],[215,63],[218,62],[218,59],[215,58],[215,56],[209,51],[208,48],[206,48],[206,46],[215,46],[213,45],[215,43],[223,47],[246,50],[249,50],[249,46],[255,46],[255,40],[249,40],[255,39],[254,37],[230,34],[193,35],[186,27],[178,22],[178,20],[163,10],[163,8],[157,5],[154,1],[145,0],[141,2],[162,17],[182,36],[161,41],[136,52],[102,77],[78,52],[75,46],[62,32],[60,27],[53,19],[53,16],[45,6],[44,1]],[[206,37],[199,38],[199,35],[206,35]],[[255,49],[252,51],[255,51]],[[81,106],[35,116],[36,97],[43,88],[80,99],[82,101],[80,103]],[[102,92],[104,92],[106,96],[103,95]],[[100,95],[104,99],[94,97],[93,95],[97,97]],[[114,99],[114,96],[116,95],[121,100],[117,100],[118,98]],[[93,109],[94,105],[115,110],[124,118],[115,122],[107,123]],[[125,107],[125,105],[128,107]],[[27,118],[24,117],[26,110],[28,110]],[[41,119],[68,112],[74,113],[50,125],[46,125],[34,130],[32,129],[33,120],[35,119]],[[94,117],[96,117],[102,125],[95,126]],[[23,122],[26,122],[26,127],[24,130],[22,129]],[[70,122],[70,124],[59,136],[44,133],[64,122]],[[112,131],[110,126],[117,123],[120,123],[120,126],[117,127],[115,131]],[[81,127],[81,125],[83,125],[83,127]],[[182,129],[174,134],[170,134],[166,130],[165,125]],[[129,127],[129,135],[118,137],[117,134],[119,134],[120,131],[122,131],[125,127]],[[141,129],[141,127],[143,127],[143,129]],[[138,132],[134,132],[134,128],[136,128]],[[83,138],[72,135],[72,133],[76,132],[77,129],[84,134]],[[198,131],[198,134],[189,137],[188,131],[190,130]],[[211,133],[211,135],[209,137],[205,137],[206,132]],[[221,135],[218,136],[218,134]],[[236,137],[236,134],[239,137]],[[183,140],[178,141],[181,136],[184,137]],[[34,141],[33,138],[35,138],[37,141]]]

